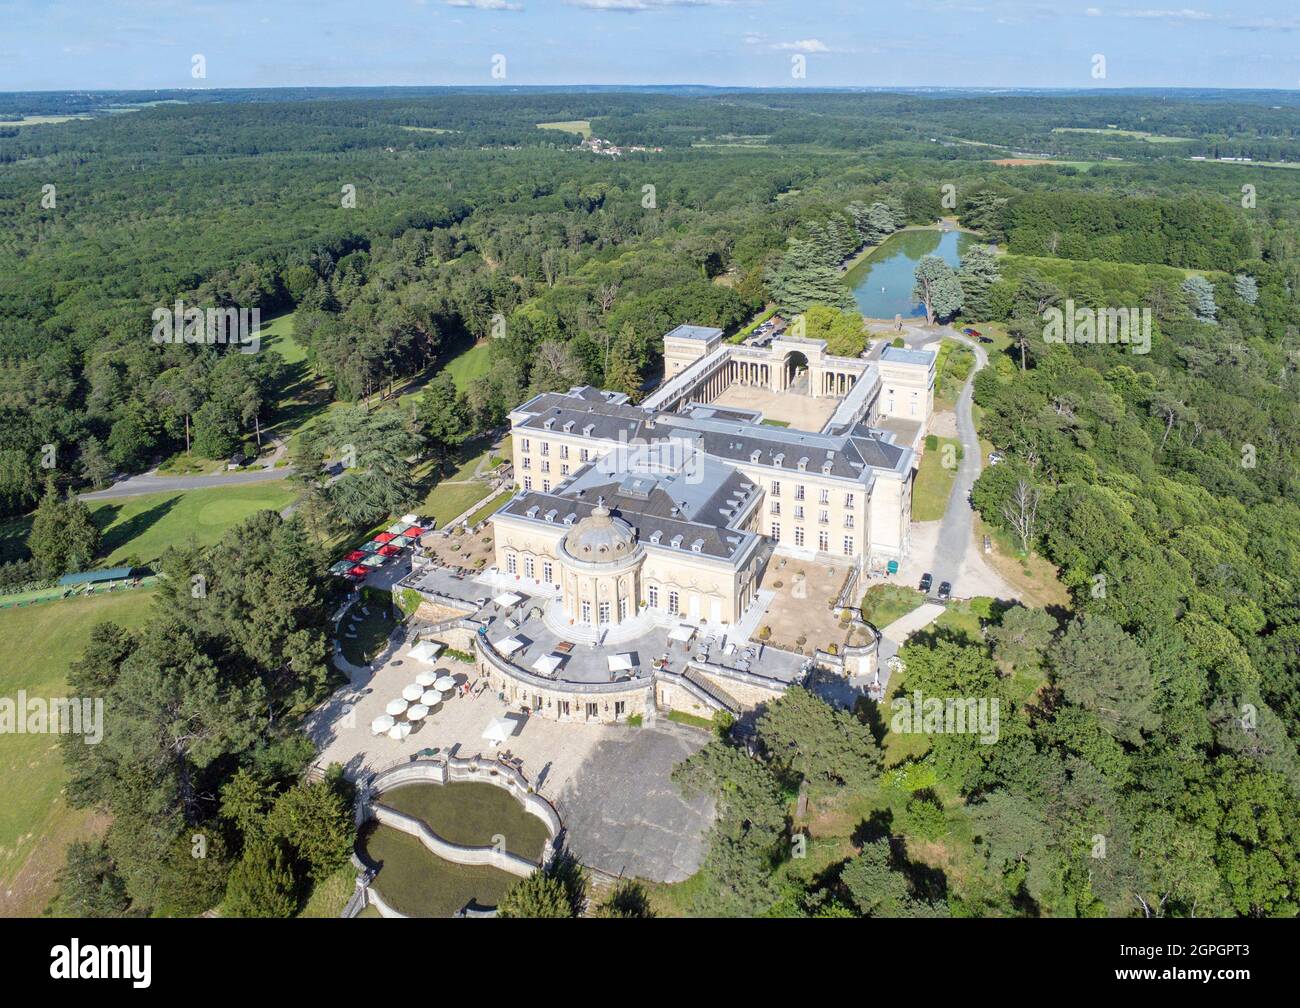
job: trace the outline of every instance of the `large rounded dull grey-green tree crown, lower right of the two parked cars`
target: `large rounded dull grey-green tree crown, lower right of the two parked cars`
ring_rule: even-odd
[[[1066,700],[1096,713],[1115,739],[1140,745],[1156,727],[1156,684],[1145,652],[1114,620],[1084,614],[1050,653]]]

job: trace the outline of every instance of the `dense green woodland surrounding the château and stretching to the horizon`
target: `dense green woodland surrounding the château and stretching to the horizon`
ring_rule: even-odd
[[[291,913],[341,864],[344,788],[298,783],[296,726],[330,688],[322,557],[303,541],[400,514],[412,459],[439,470],[532,391],[641,394],[679,323],[737,333],[764,307],[812,308],[810,330],[854,352],[840,265],[945,213],[997,252],[924,265],[918,286],[936,317],[1011,337],[975,382],[1006,460],[974,505],[1058,567],[1071,602],[976,600],[978,630],[905,649],[898,689],[1000,700],[993,745],[935,735],[890,760],[888,701],[835,711],[802,691],[745,745],[720,732],[677,774],[720,817],[676,907],[1300,912],[1300,172],[1187,160],[1300,160],[1292,98],[251,94],[0,122],[0,505],[40,502],[38,563],[94,563],[69,489],[222,458],[283,419],[276,352],[156,345],[156,307],[295,311],[338,403],[295,445],[295,518],[169,554],[159,619],[100,628],[74,669],[117,715],[69,753],[72,793],[114,817],[72,852],[66,912]],[[103,105],[124,100],[139,99]],[[611,160],[537,127],[571,120],[664,150]],[[1184,139],[1061,131],[1112,127]],[[1017,152],[1074,164],[992,164]],[[1066,302],[1149,308],[1150,352],[1045,343],[1043,312]],[[489,373],[458,391],[442,365],[478,339]],[[359,458],[326,485],[343,445]],[[192,601],[195,577],[217,605]],[[801,791],[861,818],[852,849],[796,821]],[[220,855],[202,865],[181,857],[196,830]],[[529,886],[511,912],[572,903],[559,881]]]

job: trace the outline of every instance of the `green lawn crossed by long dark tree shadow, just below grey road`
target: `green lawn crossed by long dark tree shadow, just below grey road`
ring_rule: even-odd
[[[134,559],[148,564],[170,545],[194,541],[211,546],[228,528],[256,511],[280,511],[298,490],[285,480],[176,490],[91,502],[91,518],[103,535],[96,566]]]

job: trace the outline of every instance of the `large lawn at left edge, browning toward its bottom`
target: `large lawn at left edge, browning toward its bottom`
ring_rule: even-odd
[[[81,657],[96,623],[140,627],[153,592],[136,589],[0,611],[0,696],[68,695],[68,666]],[[64,765],[55,735],[6,735],[0,774],[0,917],[39,914],[53,895],[69,842],[103,829],[101,817],[62,797]],[[14,787],[14,782],[22,787]]]

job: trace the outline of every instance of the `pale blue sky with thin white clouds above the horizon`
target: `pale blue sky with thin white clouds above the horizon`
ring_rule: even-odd
[[[1179,1],[0,0],[0,91],[1300,87],[1297,0]]]

